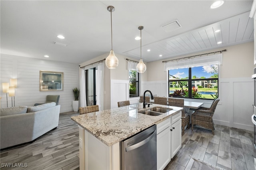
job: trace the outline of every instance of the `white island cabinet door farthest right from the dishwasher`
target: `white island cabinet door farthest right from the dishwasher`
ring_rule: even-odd
[[[171,156],[181,148],[181,119],[171,125]]]

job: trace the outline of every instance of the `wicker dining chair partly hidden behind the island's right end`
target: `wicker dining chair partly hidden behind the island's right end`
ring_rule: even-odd
[[[186,125],[188,125],[188,128],[190,128],[190,126],[189,126],[189,124],[190,124],[190,115],[189,115],[189,113],[185,113],[184,99],[177,99],[177,98],[169,97],[168,98],[168,105],[183,108],[183,110],[181,111],[181,127],[182,127],[182,134],[184,134]]]

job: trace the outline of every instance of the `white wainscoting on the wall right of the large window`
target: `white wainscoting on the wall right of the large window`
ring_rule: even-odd
[[[254,103],[254,81],[251,77],[219,79],[220,104],[214,113],[214,123],[253,131],[251,121]]]

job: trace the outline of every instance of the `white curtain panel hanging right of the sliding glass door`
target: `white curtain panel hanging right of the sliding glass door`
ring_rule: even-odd
[[[105,61],[98,63],[98,71],[96,74],[96,103],[99,110],[104,110],[104,68]]]

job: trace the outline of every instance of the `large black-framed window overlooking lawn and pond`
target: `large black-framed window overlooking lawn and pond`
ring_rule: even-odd
[[[169,97],[218,98],[218,65],[169,70]]]

